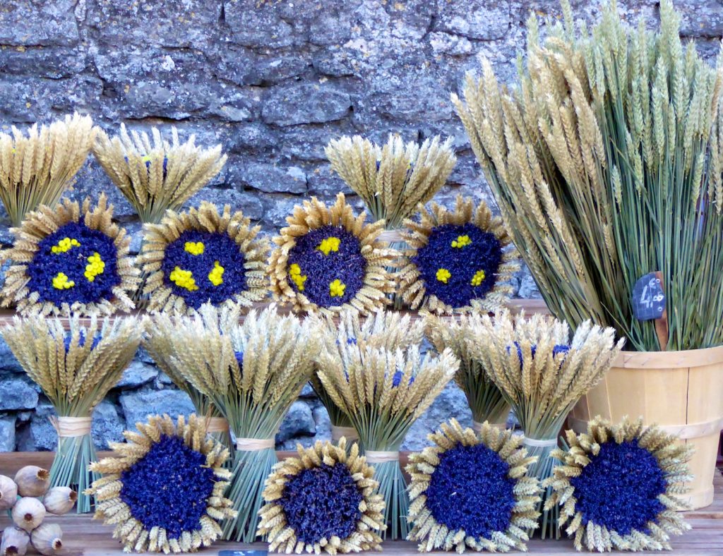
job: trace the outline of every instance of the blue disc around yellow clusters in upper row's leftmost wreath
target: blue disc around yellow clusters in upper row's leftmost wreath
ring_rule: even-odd
[[[72,246],[63,253],[53,253],[52,248],[64,238],[77,240],[80,246]],[[85,267],[89,264],[88,257],[93,253],[98,253],[106,266],[103,273],[97,274],[90,282],[85,277]],[[115,297],[113,288],[121,283],[117,259],[118,250],[112,238],[82,222],[69,222],[38,243],[38,252],[27,264],[27,275],[30,277],[27,287],[31,292],[38,292],[40,303],[72,305],[112,300]],[[75,285],[67,290],[54,287],[53,279],[59,272],[65,274],[69,282],[75,282]]]

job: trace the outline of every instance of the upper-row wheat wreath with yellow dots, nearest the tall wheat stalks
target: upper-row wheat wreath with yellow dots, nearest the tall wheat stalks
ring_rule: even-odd
[[[422,208],[419,222],[405,220],[410,246],[399,272],[399,295],[411,308],[433,313],[495,312],[512,293],[520,269],[517,252],[500,217],[484,201],[457,197],[449,211],[436,203]]]

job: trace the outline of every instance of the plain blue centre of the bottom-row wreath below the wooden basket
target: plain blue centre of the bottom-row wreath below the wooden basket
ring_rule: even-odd
[[[665,509],[658,496],[667,483],[655,456],[630,440],[603,443],[597,456],[589,457],[580,476],[570,479],[583,525],[592,521],[621,535],[646,531],[648,521]]]

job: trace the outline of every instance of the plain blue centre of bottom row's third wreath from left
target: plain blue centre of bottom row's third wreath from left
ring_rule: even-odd
[[[450,531],[464,529],[474,538],[489,539],[507,531],[515,505],[510,466],[484,444],[458,444],[440,454],[427,487],[427,507],[437,523]]]

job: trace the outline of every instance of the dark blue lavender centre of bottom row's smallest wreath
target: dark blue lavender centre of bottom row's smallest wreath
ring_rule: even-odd
[[[338,463],[321,464],[288,477],[278,504],[299,541],[316,544],[353,534],[361,519],[361,500],[348,467]]]

